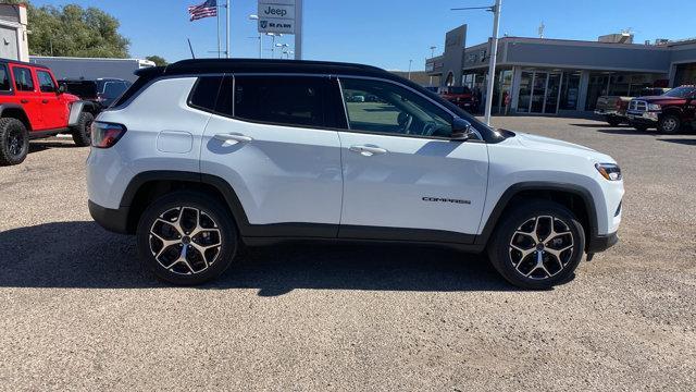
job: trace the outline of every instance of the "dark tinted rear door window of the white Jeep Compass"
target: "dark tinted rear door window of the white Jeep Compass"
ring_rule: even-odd
[[[324,126],[324,85],[323,78],[311,76],[236,76],[233,113],[249,121]],[[220,110],[231,114],[229,109]]]

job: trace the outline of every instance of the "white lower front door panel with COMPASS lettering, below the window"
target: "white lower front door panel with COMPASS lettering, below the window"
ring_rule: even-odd
[[[488,175],[485,144],[350,132],[339,136],[344,161],[341,228],[476,234]],[[351,150],[356,146],[386,152],[361,154]]]

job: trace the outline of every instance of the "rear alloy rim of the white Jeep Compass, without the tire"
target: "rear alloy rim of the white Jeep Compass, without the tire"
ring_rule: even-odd
[[[208,270],[220,257],[222,235],[217,223],[195,207],[175,207],[150,228],[150,252],[164,269],[177,274]]]

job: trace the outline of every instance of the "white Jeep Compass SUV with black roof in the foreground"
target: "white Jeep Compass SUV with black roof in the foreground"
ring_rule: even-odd
[[[617,242],[613,159],[490,128],[386,71],[187,60],[138,75],[92,125],[89,210],[169,282],[219,277],[241,244],[314,238],[487,252],[545,289]]]

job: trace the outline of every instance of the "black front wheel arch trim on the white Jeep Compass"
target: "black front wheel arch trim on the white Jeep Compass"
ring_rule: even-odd
[[[585,187],[555,182],[523,182],[511,185],[502,193],[488,216],[483,231],[476,235],[475,244],[487,245],[505,213],[514,208],[517,201],[526,199],[548,199],[559,203],[577,217],[587,238],[598,235],[595,200]]]

